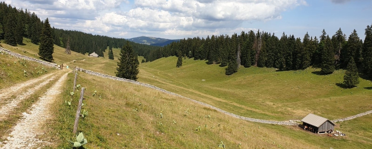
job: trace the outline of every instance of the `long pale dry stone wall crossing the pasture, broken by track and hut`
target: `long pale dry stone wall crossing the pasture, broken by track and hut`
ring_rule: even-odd
[[[44,65],[49,66],[49,67],[56,67],[57,69],[59,69],[57,67],[57,64],[54,64],[54,63],[49,63],[47,61],[38,60],[36,58],[31,58],[31,57],[23,56],[21,54],[14,53],[14,52],[12,52],[10,50],[7,50],[7,49],[1,48],[1,47],[0,47],[0,51],[2,53],[7,53],[7,54],[9,54],[11,56],[15,56],[15,57],[22,58],[22,59],[29,60],[29,61],[35,61],[35,62],[38,62],[40,64],[44,64]],[[141,86],[145,86],[145,87],[148,87],[148,88],[156,89],[158,91],[169,93],[171,95],[175,95],[175,96],[179,96],[179,97],[182,97],[182,98],[186,98],[186,99],[189,99],[190,101],[193,101],[193,102],[196,102],[198,104],[204,105],[206,107],[212,108],[214,110],[217,110],[217,111],[222,112],[224,114],[230,115],[232,117],[240,118],[242,120],[247,120],[247,121],[252,121],[252,122],[257,122],[257,123],[265,123],[265,124],[293,125],[293,126],[298,126],[299,123],[297,123],[297,122],[300,122],[299,120],[269,121],[269,120],[260,120],[260,119],[256,119],[256,118],[243,117],[243,116],[236,115],[236,114],[233,114],[233,113],[230,113],[230,112],[226,112],[226,111],[221,110],[221,109],[219,109],[217,107],[214,107],[212,105],[208,105],[208,104],[205,104],[203,102],[199,102],[199,101],[196,101],[194,99],[187,98],[187,97],[178,95],[176,93],[172,93],[172,92],[166,91],[164,89],[158,88],[156,86],[153,86],[153,85],[150,85],[150,84],[147,84],[147,83],[141,83],[141,82],[137,82],[137,81],[133,81],[133,80],[123,79],[123,78],[120,78],[120,77],[105,75],[105,74],[102,74],[102,73],[93,72],[93,71],[82,69],[82,68],[78,68],[78,70],[80,70],[81,72],[85,72],[85,73],[87,73],[89,75],[100,76],[100,77],[105,77],[105,78],[108,78],[108,79],[113,79],[113,80],[119,80],[119,81],[134,83],[134,84],[137,84],[137,85],[141,85]],[[346,117],[346,118],[340,118],[340,119],[337,119],[337,120],[332,120],[332,122],[333,123],[336,123],[336,122],[339,122],[339,121],[347,121],[347,120],[351,120],[351,119],[354,119],[354,118],[357,118],[357,117],[361,117],[363,115],[367,115],[367,114],[371,114],[371,113],[372,113],[372,110],[371,111],[367,111],[367,112],[363,112],[363,113],[360,113],[360,114],[357,114],[357,115],[354,115],[354,116],[351,116],[351,117]]]

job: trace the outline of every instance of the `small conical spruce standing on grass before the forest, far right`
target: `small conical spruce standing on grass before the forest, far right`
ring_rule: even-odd
[[[349,60],[349,64],[347,64],[346,67],[346,72],[344,75],[344,85],[346,85],[348,88],[353,88],[357,84],[359,84],[358,69],[356,67],[354,58],[351,58]]]

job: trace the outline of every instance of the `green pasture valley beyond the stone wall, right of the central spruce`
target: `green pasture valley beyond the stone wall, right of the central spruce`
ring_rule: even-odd
[[[226,76],[225,67],[203,60],[160,58],[140,65],[139,81],[179,93],[225,111],[268,120],[299,119],[308,113],[336,119],[372,110],[372,83],[360,78],[353,89],[342,88],[344,70],[317,75],[320,69],[277,72],[241,67]],[[205,81],[203,81],[205,80]]]

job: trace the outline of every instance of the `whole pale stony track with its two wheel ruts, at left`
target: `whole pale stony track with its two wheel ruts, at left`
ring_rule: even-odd
[[[58,78],[58,80],[55,78]],[[3,93],[4,95],[10,96],[12,93],[20,91],[27,86],[32,87],[28,91],[17,95],[17,97],[9,103],[1,106],[0,118],[1,115],[6,115],[7,112],[12,111],[12,109],[15,108],[23,99],[27,98],[27,96],[42,89],[43,86],[47,85],[52,80],[57,80],[54,81],[55,83],[53,83],[51,88],[49,88],[27,112],[22,113],[23,118],[12,128],[12,132],[8,135],[7,141],[4,141],[4,144],[0,149],[29,149],[37,148],[40,144],[45,144],[45,142],[39,140],[36,136],[42,133],[42,131],[40,131],[41,124],[45,123],[45,121],[51,117],[49,105],[53,104],[56,96],[61,93],[61,87],[66,78],[66,72],[57,72],[29,80],[25,83],[17,84],[12,87],[15,90],[9,90],[7,93]],[[36,83],[36,85],[32,86],[34,83]]]

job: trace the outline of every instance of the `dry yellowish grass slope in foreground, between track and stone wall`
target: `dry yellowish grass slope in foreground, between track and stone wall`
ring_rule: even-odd
[[[230,149],[239,148],[239,143],[241,148],[259,149],[372,147],[365,141],[368,136],[327,137],[294,126],[253,123],[131,83],[85,73],[79,73],[77,80],[86,87],[83,108],[89,115],[80,119],[78,128],[88,140],[86,148],[217,148],[221,141]],[[51,111],[56,119],[45,124],[48,133],[44,137],[54,142],[47,148],[69,148],[67,140],[74,139],[71,131],[80,95],[69,95],[72,86],[73,74],[69,74],[60,101]],[[71,98],[70,107],[64,101]],[[196,130],[199,126],[200,131]]]

